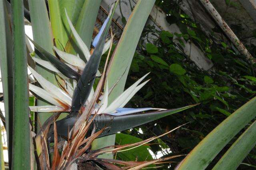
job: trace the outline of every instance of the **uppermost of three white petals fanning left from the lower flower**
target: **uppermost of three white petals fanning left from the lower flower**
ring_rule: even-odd
[[[69,106],[71,106],[72,98],[68,94],[66,94],[66,92],[64,92],[63,90],[61,90],[60,88],[58,88],[57,86],[55,86],[54,84],[52,84],[51,82],[46,80],[43,76],[38,74],[30,66],[28,66],[28,68],[31,71],[31,73],[33,74],[34,78],[36,78],[36,80],[39,82],[39,84],[42,86],[42,88],[44,88],[44,90],[46,90],[49,93],[51,93],[52,95],[56,96],[56,98],[58,98],[58,100],[61,100],[61,101],[65,102],[66,104],[68,104]]]

